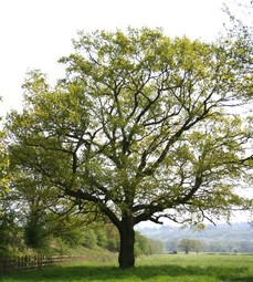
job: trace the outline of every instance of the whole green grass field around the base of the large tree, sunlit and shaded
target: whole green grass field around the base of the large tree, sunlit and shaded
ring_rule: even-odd
[[[134,270],[115,263],[76,263],[4,275],[1,282],[253,282],[253,255],[167,254],[137,260]]]

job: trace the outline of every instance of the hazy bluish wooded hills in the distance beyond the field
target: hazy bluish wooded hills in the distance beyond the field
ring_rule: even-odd
[[[139,231],[148,237],[160,239],[167,252],[240,252],[253,253],[253,228],[249,223],[211,226],[203,230],[191,228],[180,229],[171,226],[160,228],[140,228]],[[187,247],[185,247],[187,246]]]

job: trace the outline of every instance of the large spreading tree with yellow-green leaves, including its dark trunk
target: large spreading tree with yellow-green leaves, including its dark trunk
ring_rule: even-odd
[[[102,213],[135,264],[134,226],[199,223],[249,208],[238,194],[252,155],[252,73],[236,41],[170,39],[161,30],[80,32],[55,86],[32,71],[7,124],[15,184],[57,212]],[[243,56],[242,56],[243,55]],[[13,182],[13,186],[15,185]]]

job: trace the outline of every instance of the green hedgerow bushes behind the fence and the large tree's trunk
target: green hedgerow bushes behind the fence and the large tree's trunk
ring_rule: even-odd
[[[6,201],[9,207],[9,201]],[[41,215],[21,221],[21,210],[10,207],[3,212],[0,220],[0,257],[14,254],[70,254],[80,247],[91,250],[103,248],[110,252],[118,252],[119,237],[116,228],[105,222],[83,224],[78,217],[59,217],[53,213]],[[23,226],[22,226],[23,224]],[[159,240],[147,239],[139,234],[136,238],[136,254],[161,253],[164,243]],[[81,249],[81,252],[83,250]],[[83,254],[83,253],[78,253]]]

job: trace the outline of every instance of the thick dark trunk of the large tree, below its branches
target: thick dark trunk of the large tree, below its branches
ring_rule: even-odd
[[[135,267],[135,230],[133,217],[125,217],[122,220],[120,229],[120,250],[118,263],[120,269],[131,269]]]

